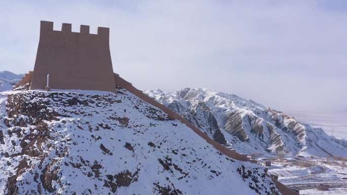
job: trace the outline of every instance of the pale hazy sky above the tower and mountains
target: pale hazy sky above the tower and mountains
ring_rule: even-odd
[[[347,1],[0,1],[0,70],[33,69],[40,20],[110,27],[114,71],[139,89],[347,111]]]

